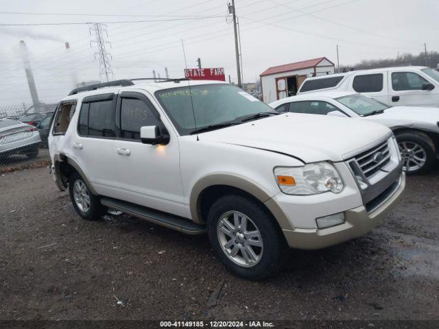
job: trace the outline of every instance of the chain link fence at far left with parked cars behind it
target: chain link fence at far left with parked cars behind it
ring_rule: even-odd
[[[0,173],[49,163],[47,136],[56,103],[0,106]]]

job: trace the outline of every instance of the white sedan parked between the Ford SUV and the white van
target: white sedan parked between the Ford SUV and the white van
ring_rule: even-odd
[[[269,104],[278,112],[351,117],[381,123],[393,130],[409,174],[425,173],[439,154],[439,108],[390,107],[352,92],[309,93]],[[358,132],[361,134],[361,132]],[[337,134],[328,127],[328,134]]]

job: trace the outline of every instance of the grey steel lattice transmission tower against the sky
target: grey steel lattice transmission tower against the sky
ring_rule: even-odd
[[[97,45],[95,59],[96,56],[99,55],[99,79],[101,82],[114,80],[110,64],[110,59],[112,59],[111,54],[108,53],[105,48],[106,44],[111,46],[111,43],[104,39],[104,34],[108,38],[106,25],[102,23],[92,23],[88,29],[90,30],[90,36],[94,36],[94,39],[90,40],[90,47],[92,42]]]

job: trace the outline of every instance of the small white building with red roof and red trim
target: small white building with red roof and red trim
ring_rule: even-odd
[[[307,77],[332,74],[334,71],[334,63],[326,57],[272,66],[260,75],[263,101],[270,103],[294,96]]]

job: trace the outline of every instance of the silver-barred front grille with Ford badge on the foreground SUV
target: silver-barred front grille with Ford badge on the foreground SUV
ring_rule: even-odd
[[[357,160],[359,168],[363,171],[366,178],[369,178],[390,161],[388,141],[358,154],[355,156],[355,160]]]

